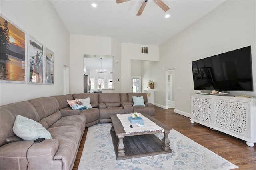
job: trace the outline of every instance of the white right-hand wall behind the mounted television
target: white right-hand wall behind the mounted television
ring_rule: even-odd
[[[193,87],[191,61],[210,57],[241,47],[252,47],[254,92],[234,92],[230,95],[256,96],[256,19],[255,1],[226,1],[212,12],[160,45],[160,62],[152,67],[164,82],[164,69],[175,68],[175,111],[190,115],[190,93]],[[163,83],[165,84],[165,83]],[[155,103],[164,105],[164,89],[158,85]],[[162,86],[161,86],[162,87]],[[178,90],[178,87],[181,87]]]

